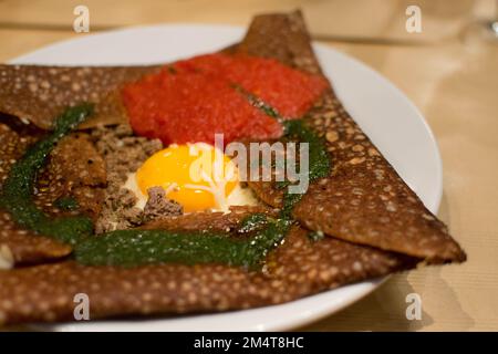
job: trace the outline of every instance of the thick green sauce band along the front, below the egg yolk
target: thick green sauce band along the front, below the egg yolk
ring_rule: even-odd
[[[286,220],[270,221],[248,238],[203,231],[120,230],[87,238],[75,247],[74,254],[76,261],[89,266],[175,262],[225,263],[255,269],[284,238],[289,227],[290,222]]]

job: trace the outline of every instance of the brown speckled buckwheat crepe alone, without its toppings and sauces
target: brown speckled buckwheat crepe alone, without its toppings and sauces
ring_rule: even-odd
[[[310,73],[321,73],[300,12],[256,17],[243,41],[229,52],[274,58]],[[75,196],[91,217],[100,212],[106,169],[89,138],[98,124],[127,123],[120,90],[158,66],[46,67],[0,65],[0,177],[23,150],[52,126],[64,106],[96,104],[86,131],[64,138],[38,178],[40,208],[61,211],[54,201]],[[31,124],[17,122],[21,118]],[[352,282],[416,267],[419,262],[461,262],[465,252],[447,228],[427,210],[345,112],[332,86],[305,118],[326,142],[332,170],[314,181],[293,209],[299,221],[267,257],[262,271],[224,264],[87,267],[68,259],[71,247],[32,235],[0,214],[0,256],[13,269],[0,271],[0,324],[73,319],[76,293],[91,299],[92,320],[215,312],[270,305]],[[77,149],[79,154],[74,154]],[[89,168],[89,160],[92,160]],[[282,191],[272,183],[250,188],[274,214]],[[230,230],[253,212],[199,212],[169,217],[144,228]],[[75,211],[71,211],[75,212]],[[311,240],[310,230],[325,237]],[[29,267],[27,267],[28,264]]]

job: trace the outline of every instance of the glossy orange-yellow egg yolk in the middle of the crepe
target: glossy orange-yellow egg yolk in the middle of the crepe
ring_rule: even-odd
[[[163,187],[166,197],[186,212],[222,209],[238,184],[230,158],[205,143],[172,145],[155,153],[137,170],[136,181],[145,196],[148,188]]]

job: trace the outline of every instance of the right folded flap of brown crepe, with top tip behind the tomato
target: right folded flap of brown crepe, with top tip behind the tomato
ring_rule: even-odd
[[[321,72],[299,12],[256,18],[239,50],[274,58],[310,73]],[[308,113],[305,122],[325,140],[333,168],[329,177],[310,185],[293,209],[297,220],[311,230],[426,262],[465,261],[465,252],[446,226],[396,174],[332,87]],[[283,191],[272,183],[249,186],[266,202],[281,207]]]

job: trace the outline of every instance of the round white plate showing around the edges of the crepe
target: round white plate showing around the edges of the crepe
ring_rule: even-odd
[[[239,41],[245,30],[226,25],[172,24],[132,28],[45,46],[12,63],[103,65],[168,62]],[[418,110],[378,73],[329,46],[318,58],[354,119],[433,212],[442,196],[442,162]],[[373,291],[365,281],[282,305],[220,314],[134,321],[43,325],[52,331],[279,331],[330,315]]]

